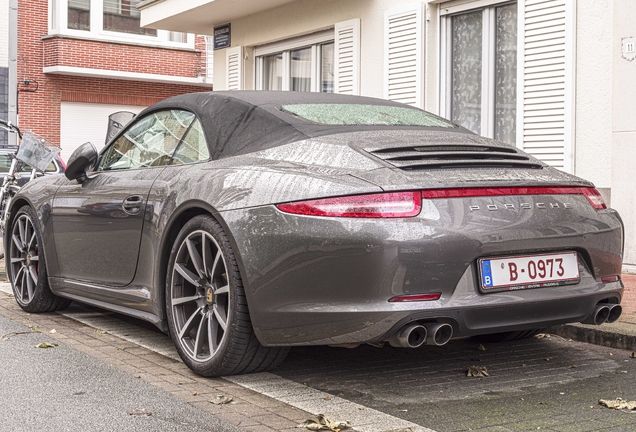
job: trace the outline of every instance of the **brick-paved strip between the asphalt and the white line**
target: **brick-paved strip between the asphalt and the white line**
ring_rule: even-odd
[[[0,292],[0,314],[248,431],[298,432],[296,426],[312,417],[308,412],[225,379],[200,377],[180,361],[57,313],[26,313],[5,292]],[[217,395],[232,396],[234,400],[225,405],[210,403]]]

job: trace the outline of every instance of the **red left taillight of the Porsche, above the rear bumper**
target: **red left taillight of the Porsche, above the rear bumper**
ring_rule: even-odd
[[[390,192],[278,204],[276,207],[285,213],[306,216],[403,218],[420,213],[422,198],[420,192]]]

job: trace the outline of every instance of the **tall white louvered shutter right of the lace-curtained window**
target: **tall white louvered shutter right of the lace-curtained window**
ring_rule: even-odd
[[[573,171],[574,17],[567,0],[523,0],[518,142],[547,164]]]

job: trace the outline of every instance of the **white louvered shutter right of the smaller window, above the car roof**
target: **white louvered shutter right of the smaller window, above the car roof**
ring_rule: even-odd
[[[360,94],[360,19],[336,23],[334,28],[336,93]]]

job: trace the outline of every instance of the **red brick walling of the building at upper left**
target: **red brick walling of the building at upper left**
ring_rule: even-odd
[[[146,106],[177,94],[209,91],[209,87],[42,72],[54,59],[63,59],[66,66],[196,77],[203,73],[205,38],[199,36],[195,43],[203,52],[50,38],[48,1],[21,0],[18,9],[20,127],[59,143],[62,101]],[[24,80],[30,83],[25,85]]]

